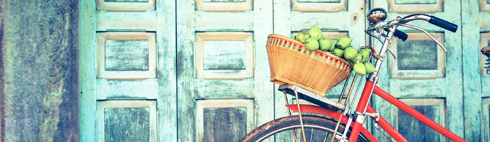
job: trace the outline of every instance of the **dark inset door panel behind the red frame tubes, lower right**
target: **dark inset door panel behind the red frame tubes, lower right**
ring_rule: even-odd
[[[439,115],[440,108],[437,105],[434,106],[412,106],[418,112],[424,114],[431,120],[437,123],[441,119]],[[441,142],[441,134],[436,130],[430,128],[424,123],[413,118],[403,110],[398,109],[398,131],[407,138],[410,142]],[[438,137],[439,136],[439,137]]]

